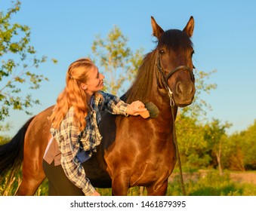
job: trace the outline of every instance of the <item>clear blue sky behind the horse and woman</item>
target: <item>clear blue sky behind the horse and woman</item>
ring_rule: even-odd
[[[31,44],[38,55],[58,60],[39,71],[49,78],[32,93],[42,105],[34,115],[53,105],[65,86],[66,69],[80,57],[91,54],[95,35],[106,37],[119,26],[129,38],[132,50],[155,47],[150,16],[162,29],[184,29],[195,19],[193,44],[196,69],[217,70],[208,82],[217,89],[202,96],[212,107],[207,118],[233,124],[229,133],[245,130],[256,119],[256,1],[254,0],[21,0],[21,10],[12,20],[31,29]],[[11,8],[11,0],[0,0],[0,11]],[[191,105],[193,106],[193,105]],[[11,136],[29,119],[23,112],[11,112]]]

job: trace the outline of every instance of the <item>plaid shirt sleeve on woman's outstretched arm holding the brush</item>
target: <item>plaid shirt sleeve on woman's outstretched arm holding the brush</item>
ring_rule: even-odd
[[[104,93],[100,91],[100,94],[103,96],[101,110],[106,110],[107,112],[113,115],[125,115],[128,104],[119,99],[119,97],[114,96],[113,94]]]

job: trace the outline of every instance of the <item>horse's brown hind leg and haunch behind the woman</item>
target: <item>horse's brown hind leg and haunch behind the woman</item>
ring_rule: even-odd
[[[45,179],[42,161],[45,148],[51,137],[49,133],[50,125],[46,118],[48,113],[45,111],[34,118],[26,131],[23,153],[23,178],[17,195],[34,195]]]

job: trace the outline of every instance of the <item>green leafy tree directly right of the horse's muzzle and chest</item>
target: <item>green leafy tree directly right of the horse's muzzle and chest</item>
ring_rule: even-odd
[[[207,167],[211,161],[211,155],[207,153],[208,143],[204,139],[205,118],[211,105],[202,99],[202,93],[211,93],[217,84],[209,84],[208,78],[215,71],[202,72],[195,69],[196,94],[192,105],[179,109],[176,118],[177,142],[180,155],[187,167]]]

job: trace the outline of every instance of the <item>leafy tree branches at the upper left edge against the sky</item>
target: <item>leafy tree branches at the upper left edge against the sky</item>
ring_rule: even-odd
[[[31,94],[20,95],[23,90],[39,89],[42,81],[48,81],[44,75],[35,73],[40,63],[45,63],[47,57],[37,57],[35,48],[29,44],[29,26],[11,23],[11,17],[20,11],[20,1],[14,3],[6,13],[0,12],[0,120],[9,115],[9,109],[24,110],[39,104],[39,99],[33,99]],[[56,60],[53,60],[57,63]],[[27,87],[26,87],[26,86]],[[1,129],[1,127],[0,127]]]

